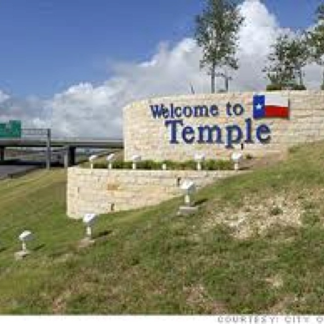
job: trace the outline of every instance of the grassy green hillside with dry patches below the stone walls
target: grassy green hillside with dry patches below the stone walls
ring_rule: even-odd
[[[182,199],[102,215],[80,248],[65,172],[0,183],[1,313],[323,313],[324,144]],[[19,233],[33,253],[14,260]]]

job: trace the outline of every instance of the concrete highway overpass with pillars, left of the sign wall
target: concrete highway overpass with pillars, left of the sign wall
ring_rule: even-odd
[[[33,138],[22,137],[12,139],[0,139],[0,161],[5,160],[6,148],[14,147],[44,147],[46,148],[46,165],[51,166],[52,148],[60,148],[64,152],[64,166],[75,165],[75,151],[77,148],[98,148],[98,149],[123,149],[123,139],[109,138]]]

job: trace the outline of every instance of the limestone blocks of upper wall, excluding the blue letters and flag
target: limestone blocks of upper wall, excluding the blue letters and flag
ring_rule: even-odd
[[[271,129],[271,140],[267,144],[255,141],[245,145],[245,152],[254,156],[285,150],[298,143],[324,139],[324,91],[283,91],[276,92],[290,101],[290,118],[253,119],[252,131],[261,124]],[[216,117],[184,118],[185,125],[236,124],[245,128],[245,119],[253,116],[253,96],[257,93],[228,93],[208,95],[186,95],[161,97],[134,102],[124,108],[124,144],[125,158],[130,160],[135,154],[143,159],[186,160],[192,159],[196,152],[204,152],[207,158],[228,157],[233,149],[224,144],[170,144],[170,132],[165,126],[165,119],[154,119],[150,105],[165,104],[170,106],[217,105],[219,115]],[[267,93],[262,93],[267,94]],[[271,93],[273,94],[273,93]],[[228,116],[226,104],[241,104],[244,113]],[[178,134],[180,136],[180,134]],[[234,149],[239,149],[236,145]]]

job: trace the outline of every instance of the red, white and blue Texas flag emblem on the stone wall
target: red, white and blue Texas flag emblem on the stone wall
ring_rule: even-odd
[[[277,94],[256,95],[253,97],[253,117],[289,118],[289,100]]]

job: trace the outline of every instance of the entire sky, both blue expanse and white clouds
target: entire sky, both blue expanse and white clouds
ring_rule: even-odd
[[[308,28],[322,0],[245,0],[232,90],[262,90],[260,70],[283,28]],[[114,136],[121,108],[155,95],[209,91],[193,35],[202,0],[1,0],[0,119],[54,134]],[[251,65],[253,62],[253,73]],[[314,66],[309,87],[317,87]]]

